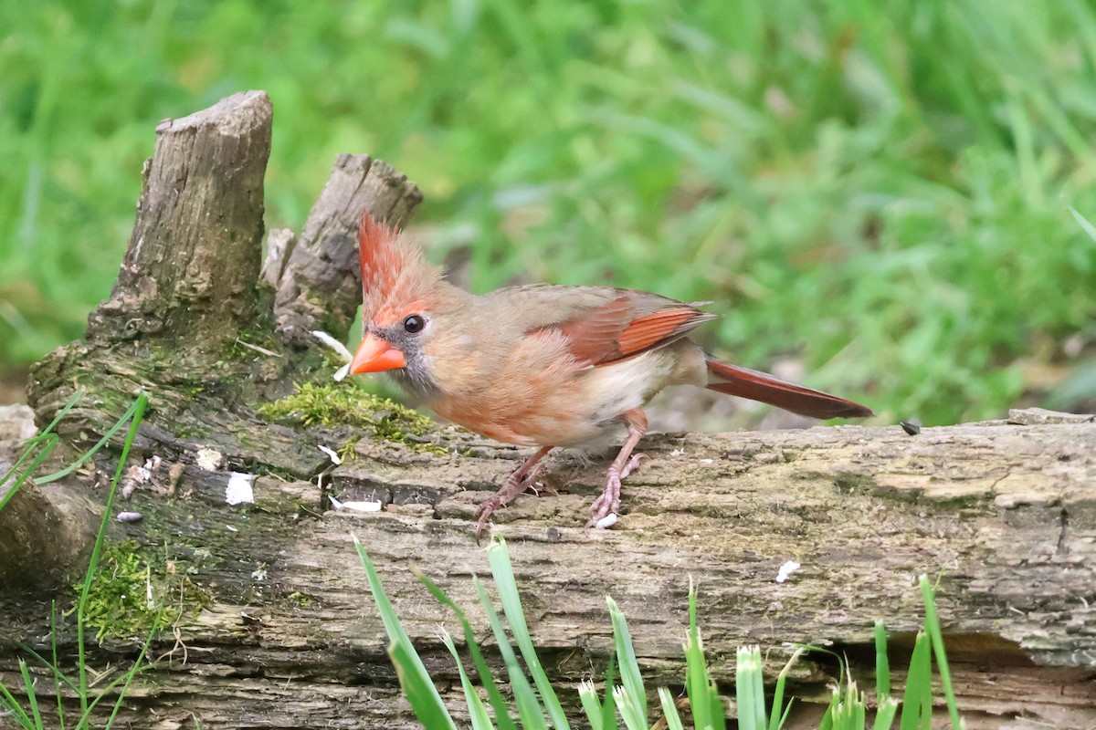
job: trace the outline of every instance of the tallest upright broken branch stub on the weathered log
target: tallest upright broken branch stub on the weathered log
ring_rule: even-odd
[[[160,123],[129,247],[111,299],[89,318],[90,340],[156,334],[216,347],[254,321],[272,117],[266,94],[248,92]]]

